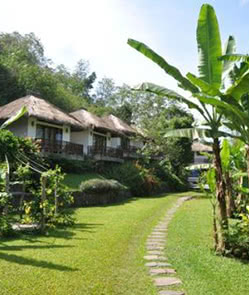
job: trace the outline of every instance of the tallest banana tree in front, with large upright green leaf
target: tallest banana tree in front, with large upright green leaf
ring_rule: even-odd
[[[222,113],[217,112],[216,107],[212,107],[210,110],[208,102],[206,102],[205,99],[215,98],[217,101],[222,101],[223,97],[226,96],[226,92],[231,90],[227,90],[225,87],[225,76],[231,71],[234,61],[222,61],[218,59],[222,56],[222,45],[215,11],[209,4],[204,4],[201,7],[199,14],[197,25],[199,77],[191,73],[188,73],[186,77],[183,76],[176,67],[170,65],[163,57],[139,41],[128,39],[128,44],[155,62],[168,75],[175,78],[179,83],[179,87],[190,92],[192,97],[187,99],[173,90],[152,83],[142,83],[137,88],[138,90],[148,91],[185,103],[189,108],[197,110],[205,120],[204,126],[179,131],[171,130],[165,136],[193,137],[198,135],[201,137],[205,135],[213,140],[212,146],[216,173],[216,198],[219,211],[219,241],[217,242],[215,248],[217,252],[222,253],[225,250],[224,232],[228,228],[228,220],[219,138],[220,136],[226,136],[227,133],[220,130],[220,127],[222,126]],[[235,40],[232,36],[230,36],[224,48],[223,54],[230,55],[234,53]]]

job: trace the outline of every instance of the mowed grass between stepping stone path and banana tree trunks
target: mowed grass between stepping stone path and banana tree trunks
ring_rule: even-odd
[[[216,256],[212,250],[211,204],[186,203],[169,226],[166,253],[187,295],[249,294],[249,264]]]

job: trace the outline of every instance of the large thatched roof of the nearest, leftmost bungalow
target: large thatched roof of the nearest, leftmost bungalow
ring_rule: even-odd
[[[15,115],[23,106],[26,106],[28,110],[25,116],[35,117],[51,123],[67,124],[78,129],[83,128],[80,122],[72,116],[44,99],[33,95],[27,95],[2,106],[0,108],[0,120],[5,120]]]

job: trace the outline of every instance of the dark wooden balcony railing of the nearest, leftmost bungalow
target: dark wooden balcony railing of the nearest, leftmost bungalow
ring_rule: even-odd
[[[63,140],[49,141],[36,138],[36,142],[40,145],[41,152],[50,154],[67,154],[83,156],[83,145]]]

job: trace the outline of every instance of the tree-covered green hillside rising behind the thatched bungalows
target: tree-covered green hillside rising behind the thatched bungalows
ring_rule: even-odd
[[[112,113],[140,127],[150,138],[144,153],[167,155],[162,165],[181,176],[182,167],[191,162],[191,141],[169,140],[164,134],[168,128],[190,128],[193,116],[167,97],[117,86],[110,78],[96,82],[96,78],[83,59],[73,70],[55,66],[33,33],[0,34],[0,105],[33,94],[67,112],[86,108],[99,116]]]

